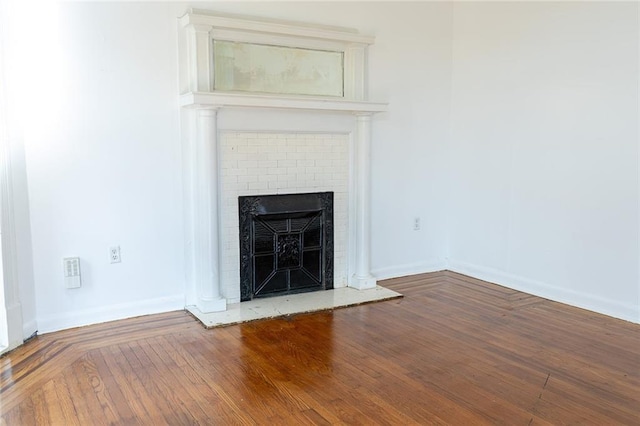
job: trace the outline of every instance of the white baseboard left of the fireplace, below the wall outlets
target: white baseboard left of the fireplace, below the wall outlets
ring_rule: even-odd
[[[160,297],[119,305],[101,306],[95,309],[82,309],[63,315],[38,318],[38,333],[51,333],[67,328],[80,327],[101,322],[159,314],[184,309],[184,294]]]

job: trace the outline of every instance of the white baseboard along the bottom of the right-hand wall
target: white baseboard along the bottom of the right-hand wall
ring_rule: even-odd
[[[449,260],[448,269],[452,272],[468,275],[483,281],[495,283],[514,290],[544,297],[545,299],[565,303],[600,314],[626,321],[640,323],[639,308],[633,303],[621,303],[611,299],[594,296],[544,282],[531,280],[485,266]]]

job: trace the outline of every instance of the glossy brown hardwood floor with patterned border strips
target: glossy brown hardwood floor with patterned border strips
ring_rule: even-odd
[[[640,424],[640,326],[462,275],[205,330],[172,312],[0,358],[0,424]]]

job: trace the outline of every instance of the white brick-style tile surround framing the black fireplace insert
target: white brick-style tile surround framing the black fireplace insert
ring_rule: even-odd
[[[220,133],[220,292],[240,301],[238,197],[334,193],[334,287],[347,285],[349,145],[344,133]]]

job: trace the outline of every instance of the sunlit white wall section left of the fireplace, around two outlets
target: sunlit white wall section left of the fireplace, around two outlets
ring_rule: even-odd
[[[144,3],[58,14],[57,55],[39,78],[59,97],[34,109],[26,143],[39,329],[180,309],[174,16]],[[111,245],[122,263],[109,263]],[[64,286],[66,256],[81,258],[80,289]]]

